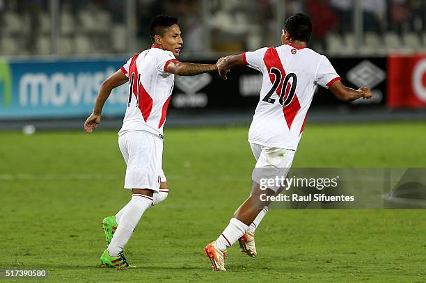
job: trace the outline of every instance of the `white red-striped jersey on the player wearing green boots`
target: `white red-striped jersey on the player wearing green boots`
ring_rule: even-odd
[[[166,72],[166,67],[173,60],[177,59],[171,51],[152,47],[136,54],[120,68],[129,78],[129,100],[119,135],[126,131],[148,131],[163,137],[175,82],[175,75]]]

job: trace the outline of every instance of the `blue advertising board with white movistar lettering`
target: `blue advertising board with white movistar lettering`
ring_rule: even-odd
[[[102,81],[126,60],[2,61],[0,119],[89,115]],[[123,115],[127,97],[127,84],[113,90],[102,115]]]

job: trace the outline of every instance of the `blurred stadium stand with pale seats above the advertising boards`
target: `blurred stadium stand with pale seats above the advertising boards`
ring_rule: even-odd
[[[124,61],[150,47],[150,20],[164,13],[179,18],[184,39],[181,60],[216,60],[280,45],[285,18],[299,12],[313,21],[310,47],[330,58],[362,61],[390,54],[426,54],[426,0],[0,0],[0,55],[2,60]],[[310,120],[326,120],[329,110],[322,115],[321,107],[315,108]],[[351,120],[348,111],[339,119]],[[207,115],[213,124],[221,124],[217,117],[227,112],[218,113]],[[383,113],[384,120],[391,115],[385,104],[374,108],[374,113]],[[410,113],[407,117],[426,118],[421,109]],[[173,109],[171,115],[183,124],[191,120]],[[249,122],[250,115],[229,115],[231,120],[223,120],[231,124]],[[398,112],[395,117],[402,115]],[[0,122],[0,128],[4,124]]]

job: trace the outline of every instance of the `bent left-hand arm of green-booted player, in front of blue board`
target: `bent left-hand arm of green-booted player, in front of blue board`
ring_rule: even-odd
[[[86,122],[84,122],[84,130],[86,133],[91,133],[93,129],[96,129],[99,125],[102,108],[111,94],[111,91],[128,80],[129,78],[127,78],[121,70],[118,70],[102,83],[99,92],[97,92],[93,113],[86,119]]]

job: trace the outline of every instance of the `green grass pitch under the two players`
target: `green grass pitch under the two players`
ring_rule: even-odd
[[[40,282],[426,282],[425,210],[271,209],[258,257],[233,246],[228,271],[212,272],[203,246],[251,184],[247,131],[166,129],[171,193],[143,216],[125,249],[138,268],[124,271],[99,266],[100,221],[129,200],[116,132],[1,132],[0,269],[49,270]],[[426,167],[425,145],[424,123],[308,124],[293,165]]]

